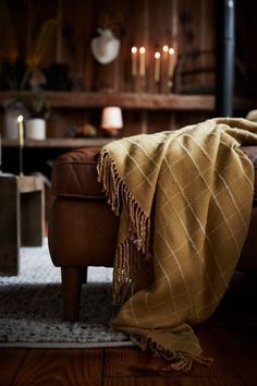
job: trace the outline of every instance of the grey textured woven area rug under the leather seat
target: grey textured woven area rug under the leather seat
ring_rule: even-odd
[[[89,267],[83,285],[81,317],[62,322],[61,273],[42,248],[22,248],[17,277],[0,277],[1,347],[131,346],[108,322],[117,313],[111,302],[112,269]]]

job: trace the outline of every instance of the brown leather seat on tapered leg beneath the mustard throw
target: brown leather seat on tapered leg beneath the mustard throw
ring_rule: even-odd
[[[238,269],[257,267],[257,146],[242,147],[255,167],[252,220]],[[52,262],[62,270],[64,318],[78,318],[83,273],[87,266],[113,264],[118,217],[97,182],[100,148],[82,148],[58,157],[52,169],[54,195],[49,221]]]

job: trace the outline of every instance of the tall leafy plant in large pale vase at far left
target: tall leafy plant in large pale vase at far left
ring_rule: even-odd
[[[17,137],[16,119],[24,117],[25,126],[28,118],[27,104],[24,105],[24,91],[37,88],[46,82],[40,70],[42,58],[56,37],[57,20],[46,20],[35,33],[25,58],[19,56],[16,34],[5,0],[0,0],[0,69],[1,86],[12,92],[12,99],[5,102],[4,135],[9,138]],[[40,107],[41,95],[35,95],[34,104]],[[32,104],[29,104],[32,106]],[[32,107],[36,113],[36,107]],[[32,111],[30,109],[30,111]],[[33,112],[33,113],[34,113]],[[42,112],[41,112],[42,113]],[[41,117],[37,117],[41,118]]]

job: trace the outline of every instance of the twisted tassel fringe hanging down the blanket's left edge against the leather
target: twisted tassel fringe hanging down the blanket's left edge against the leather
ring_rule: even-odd
[[[115,164],[108,150],[99,155],[97,165],[98,181],[102,183],[108,204],[117,216],[122,208],[130,218],[128,238],[117,248],[114,257],[113,301],[123,303],[126,298],[132,274],[139,265],[139,255],[149,258],[148,246],[150,236],[150,219],[142,210],[124,181],[118,173]]]

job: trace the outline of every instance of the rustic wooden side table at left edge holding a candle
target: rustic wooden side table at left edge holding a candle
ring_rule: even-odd
[[[0,173],[0,275],[19,274],[20,246],[42,245],[44,207],[41,177]]]

